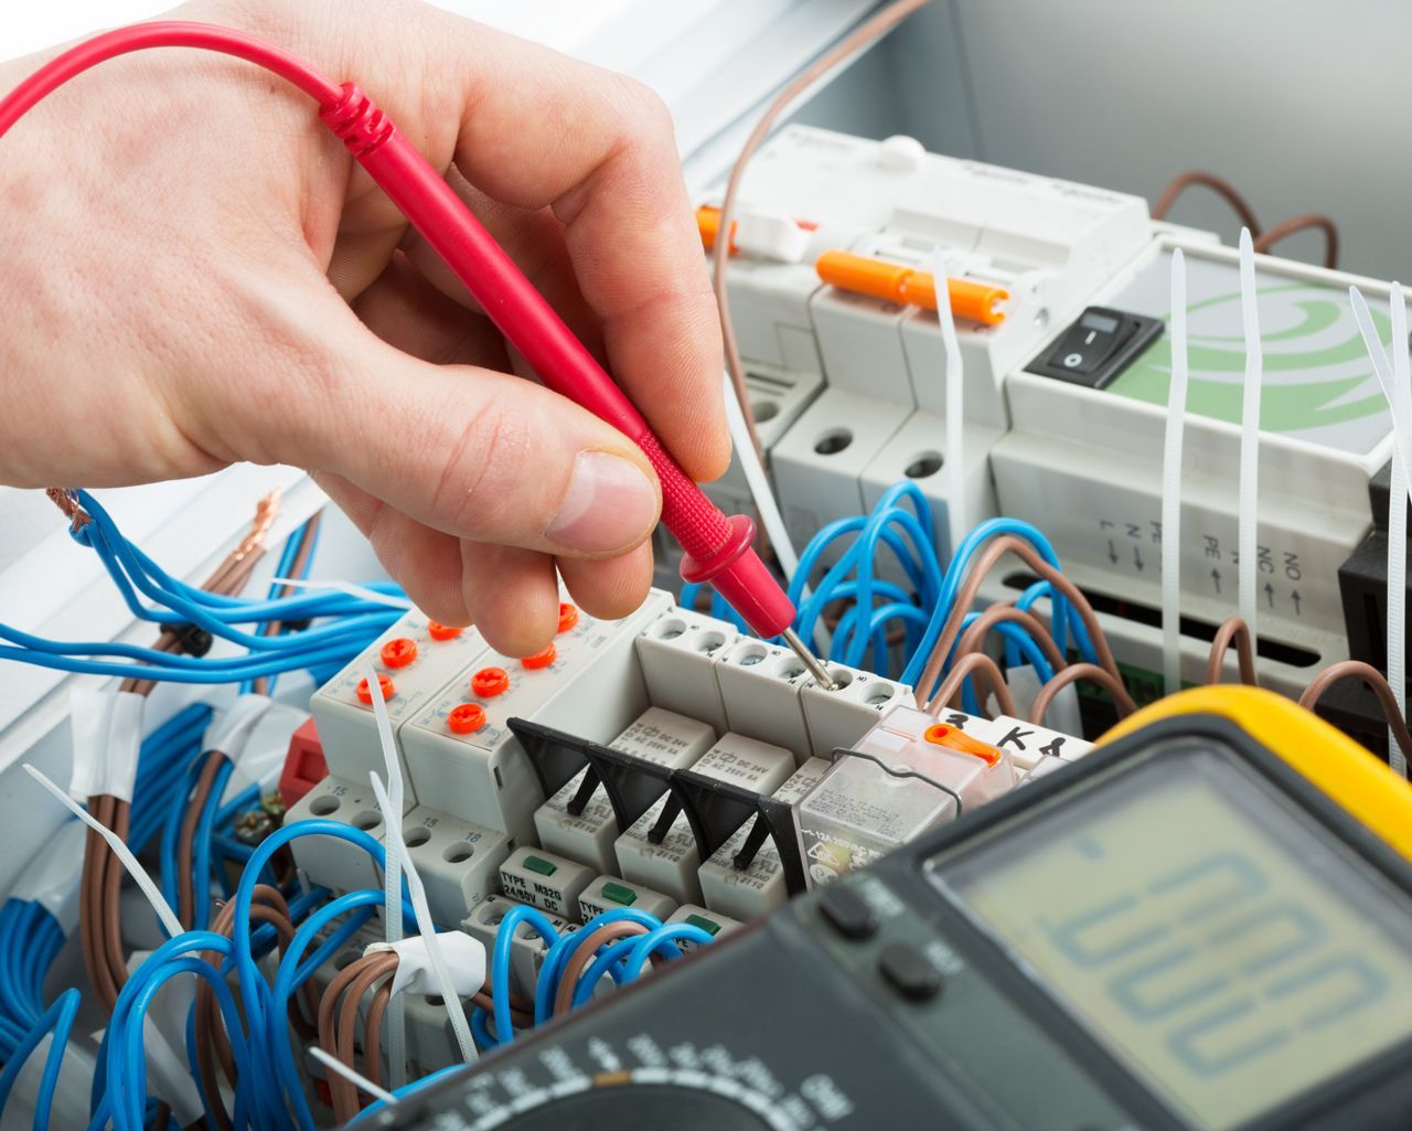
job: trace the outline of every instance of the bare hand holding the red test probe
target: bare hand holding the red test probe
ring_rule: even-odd
[[[411,0],[199,0],[376,99],[699,480],[730,457],[720,330],[666,109]],[[8,90],[41,56],[0,66]],[[157,49],[0,138],[0,483],[306,467],[431,617],[530,655],[651,579],[641,452],[532,380],[318,107]]]

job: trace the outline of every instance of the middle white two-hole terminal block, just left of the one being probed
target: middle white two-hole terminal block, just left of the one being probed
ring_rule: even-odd
[[[799,702],[809,674],[799,657],[778,644],[743,638],[717,657],[716,682],[731,731],[782,746],[796,764],[809,757],[809,727]]]

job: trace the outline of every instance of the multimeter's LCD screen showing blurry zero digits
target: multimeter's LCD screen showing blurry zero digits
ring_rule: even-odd
[[[1408,897],[1211,743],[1173,740],[936,878],[1210,1131],[1412,1034]]]

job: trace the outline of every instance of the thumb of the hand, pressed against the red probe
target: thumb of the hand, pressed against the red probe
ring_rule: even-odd
[[[476,542],[610,558],[652,532],[657,477],[617,429],[532,381],[418,360],[347,308],[333,343],[301,350],[298,377],[287,364],[261,367],[278,381],[278,412],[251,421],[251,401],[264,398],[237,397],[247,418],[236,424],[247,435],[240,457],[332,472],[417,522]]]

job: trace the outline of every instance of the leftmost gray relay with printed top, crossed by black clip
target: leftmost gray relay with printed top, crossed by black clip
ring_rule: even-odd
[[[648,707],[609,746],[668,770],[683,770],[714,741],[716,731],[709,723],[662,707]],[[599,785],[580,812],[569,812],[586,774],[587,770],[576,774],[535,810],[535,833],[549,851],[578,860],[599,873],[616,874],[617,857],[613,853],[613,842],[617,840],[618,827],[604,788]]]

